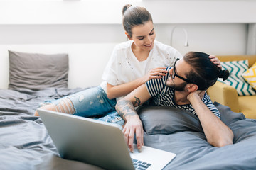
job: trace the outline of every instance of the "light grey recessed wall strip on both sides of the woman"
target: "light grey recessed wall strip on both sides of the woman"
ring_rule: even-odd
[[[245,23],[155,24],[156,40],[182,54],[203,51],[215,55],[243,55],[247,44]],[[183,47],[188,32],[188,47]],[[127,40],[121,24],[0,25],[0,44],[119,43]],[[100,46],[99,46],[100,48]],[[112,49],[111,49],[112,50]],[[90,54],[88,54],[90,55]]]

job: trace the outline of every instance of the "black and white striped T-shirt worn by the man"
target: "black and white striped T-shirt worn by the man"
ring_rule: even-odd
[[[166,70],[169,71],[171,67],[166,67]],[[177,105],[174,101],[174,89],[166,86],[166,81],[169,78],[169,73],[161,79],[151,79],[146,82],[146,88],[149,91],[151,96],[151,104],[155,106],[173,106],[175,108],[182,108],[186,111],[189,111],[196,115],[196,111],[191,104],[186,105]],[[213,102],[210,100],[210,96],[205,94],[202,98],[203,103],[210,109],[213,114],[220,118],[220,112],[213,105]],[[196,115],[197,116],[197,115]]]

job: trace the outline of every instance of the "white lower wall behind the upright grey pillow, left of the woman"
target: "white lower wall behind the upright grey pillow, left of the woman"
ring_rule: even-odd
[[[113,43],[0,45],[0,89],[9,84],[8,50],[43,54],[68,53],[68,87],[97,86],[110,58]],[[100,48],[99,48],[100,47]],[[58,64],[58,63],[55,63]]]

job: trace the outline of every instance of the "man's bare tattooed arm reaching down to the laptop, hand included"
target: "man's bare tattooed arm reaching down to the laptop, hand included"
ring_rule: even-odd
[[[124,133],[124,138],[131,152],[133,152],[134,134],[136,134],[138,149],[140,150],[142,145],[144,145],[142,121],[139,119],[139,115],[134,107],[141,105],[149,98],[149,92],[143,84],[117,102],[117,113],[119,113],[125,121],[122,132]]]

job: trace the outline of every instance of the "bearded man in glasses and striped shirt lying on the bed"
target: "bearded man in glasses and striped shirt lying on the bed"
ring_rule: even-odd
[[[165,77],[147,81],[117,103],[117,112],[125,120],[123,133],[130,151],[133,152],[134,134],[138,149],[144,145],[142,122],[134,107],[149,98],[155,106],[182,108],[196,115],[210,145],[233,144],[232,130],[220,120],[218,109],[206,94],[218,77],[225,80],[229,72],[220,70],[203,52],[188,52],[166,70],[169,73]]]

